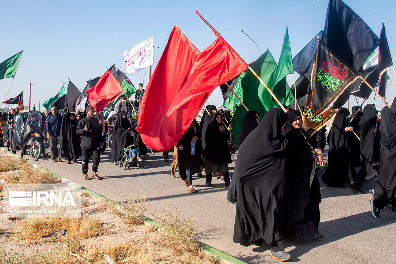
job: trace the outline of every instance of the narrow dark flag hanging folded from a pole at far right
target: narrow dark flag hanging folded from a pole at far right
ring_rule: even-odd
[[[379,77],[379,89],[378,94],[385,97],[386,88],[386,71],[392,68],[392,57],[390,55],[388,40],[385,34],[385,24],[382,22],[382,30],[379,36],[379,47],[378,47],[378,77]],[[385,75],[384,75],[385,73]]]

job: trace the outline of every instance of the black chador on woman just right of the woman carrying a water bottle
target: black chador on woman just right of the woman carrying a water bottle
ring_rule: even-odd
[[[231,163],[231,153],[227,142],[230,140],[230,132],[227,128],[223,132],[220,131],[219,126],[224,126],[224,124],[217,122],[216,117],[219,115],[220,113],[214,113],[205,134],[202,132],[202,138],[206,141],[202,155],[213,163],[224,165]]]

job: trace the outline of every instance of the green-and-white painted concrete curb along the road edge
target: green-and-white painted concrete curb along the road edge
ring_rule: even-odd
[[[4,151],[6,151],[6,153],[8,153],[8,154],[15,155],[19,159],[24,159],[24,158],[21,158],[21,157],[19,157],[18,155],[14,154],[14,153],[12,153],[11,151],[5,149],[4,147],[2,147],[2,149],[4,149]],[[26,159],[25,159],[25,161],[27,163],[29,163],[30,165],[32,165],[33,167],[35,167],[35,168],[44,170],[46,172],[49,172],[49,173],[51,173],[53,175],[58,176],[57,174],[51,172],[50,170],[48,170],[48,169],[46,169],[46,168],[44,168],[42,166],[39,166],[39,165],[37,165],[35,163],[32,163],[31,161],[28,161]],[[108,199],[108,198],[106,198],[106,197],[104,197],[104,196],[102,196],[102,195],[100,195],[98,193],[95,193],[94,191],[91,191],[90,189],[87,189],[86,187],[83,187],[80,184],[76,184],[75,182],[72,182],[72,181],[70,181],[70,180],[68,180],[66,178],[59,178],[59,179],[62,182],[67,183],[67,184],[71,184],[74,187],[80,187],[81,191],[85,191],[86,193],[89,193],[89,195],[91,195],[92,197],[95,197],[99,201],[107,201],[109,203],[113,203],[112,200],[110,200],[110,199]],[[155,220],[152,220],[152,219],[150,219],[150,218],[148,218],[146,216],[143,216],[143,221],[147,225],[155,226],[156,228],[162,228],[162,225],[159,222],[157,222]],[[214,247],[211,247],[211,246],[209,246],[209,245],[207,245],[205,243],[200,242],[200,244],[201,244],[201,247],[202,247],[203,251],[206,251],[209,254],[213,254],[213,255],[221,258],[226,263],[229,263],[229,264],[247,264],[246,262],[243,262],[242,260],[239,260],[238,258],[235,258],[234,256],[231,256],[231,255],[229,255],[227,253],[224,253],[223,251],[219,251],[218,249],[215,249]]]

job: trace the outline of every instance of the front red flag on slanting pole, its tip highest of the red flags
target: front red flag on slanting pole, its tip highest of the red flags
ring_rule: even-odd
[[[201,17],[198,11],[196,12]],[[194,62],[187,82],[168,110],[168,116],[181,108],[198,112],[217,86],[238,76],[248,67],[246,61],[230,47],[224,38],[203,17],[201,19],[213,30],[217,39]],[[192,104],[190,101],[194,98],[202,104]]]

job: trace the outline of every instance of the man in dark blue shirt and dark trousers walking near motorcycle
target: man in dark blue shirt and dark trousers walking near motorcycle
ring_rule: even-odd
[[[47,118],[47,139],[51,149],[52,162],[57,162],[56,158],[59,157],[59,162],[62,162],[62,151],[59,143],[59,135],[61,134],[62,116],[58,113],[56,106],[51,107],[52,115]]]

